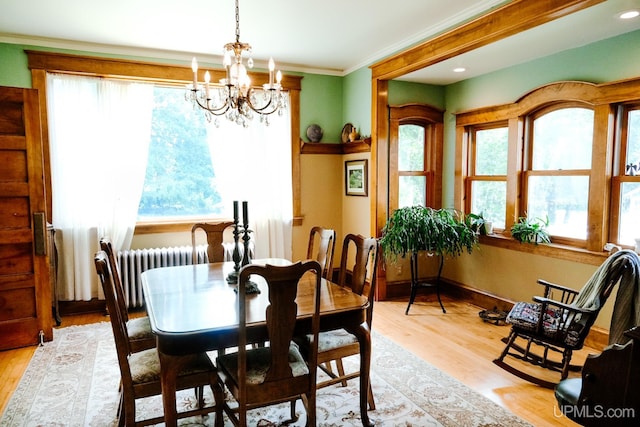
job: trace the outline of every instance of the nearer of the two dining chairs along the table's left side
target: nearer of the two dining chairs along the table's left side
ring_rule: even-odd
[[[137,353],[132,351],[127,334],[127,324],[118,309],[118,295],[107,254],[104,251],[97,252],[94,262],[109,308],[111,329],[120,367],[121,396],[118,408],[118,425],[144,426],[161,423],[164,421],[164,416],[136,421],[136,399],[162,394],[158,352],[155,348]],[[205,385],[209,385],[213,391],[215,406],[204,406]],[[179,418],[193,417],[215,411],[216,425],[223,425],[222,411],[219,406],[224,401],[224,395],[216,369],[206,353],[194,355],[178,373],[176,390],[191,388],[196,391],[197,408],[180,412],[177,416]]]

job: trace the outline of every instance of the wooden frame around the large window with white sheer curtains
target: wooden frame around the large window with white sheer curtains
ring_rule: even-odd
[[[31,70],[32,87],[38,89],[40,112],[42,116],[42,135],[45,163],[45,192],[47,198],[47,220],[51,218],[51,166],[49,153],[49,129],[47,121],[47,73],[82,74],[111,79],[138,80],[149,83],[161,83],[173,86],[185,86],[193,81],[193,71],[190,64],[172,65],[156,62],[143,62],[118,58],[103,58],[99,56],[73,55],[57,52],[42,52],[25,50],[28,67]],[[208,67],[212,81],[225,77],[222,68]],[[251,81],[256,87],[268,83],[268,72],[249,73]],[[301,184],[300,184],[300,91],[302,76],[285,75],[282,86],[289,92],[289,110],[291,114],[291,162],[292,162],[292,194],[293,194],[293,224],[302,224],[301,213]],[[203,218],[205,219],[205,218]],[[136,234],[179,232],[190,230],[194,219],[138,222]]]

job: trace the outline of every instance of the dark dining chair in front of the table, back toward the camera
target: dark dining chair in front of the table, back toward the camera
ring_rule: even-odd
[[[309,272],[315,281],[313,304],[296,303],[298,282]],[[316,425],[317,338],[320,329],[320,285],[322,268],[317,261],[300,261],[289,266],[249,264],[238,279],[238,351],[217,358],[221,381],[237,402],[237,408],[224,403],[224,411],[236,426],[247,425],[247,410],[302,398],[307,426]],[[245,290],[247,282],[264,281],[269,305],[266,307],[266,334],[269,346],[250,347],[247,340],[247,304],[253,298]],[[306,278],[303,280],[307,280]],[[308,357],[303,358],[293,342],[298,310],[311,313],[311,339]],[[250,344],[250,343],[249,343]],[[292,422],[297,420],[291,405]]]

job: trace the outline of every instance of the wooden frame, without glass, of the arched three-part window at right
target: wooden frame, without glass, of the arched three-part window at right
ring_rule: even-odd
[[[587,82],[551,83],[523,95],[517,101],[505,105],[478,108],[456,113],[456,175],[454,182],[454,207],[465,208],[468,194],[469,130],[473,126],[508,121],[509,123],[509,160],[507,177],[507,224],[506,230],[519,217],[524,215],[523,194],[524,175],[527,156],[526,137],[528,117],[544,108],[555,108],[558,104],[578,103],[594,110],[594,132],[591,170],[589,171],[589,201],[587,220],[587,239],[583,245],[564,242],[561,239],[549,245],[522,245],[511,238],[510,233],[496,233],[482,236],[482,242],[506,247],[513,250],[539,253],[561,259],[599,264],[607,256],[604,245],[615,240],[617,230],[613,221],[616,211],[612,209],[612,200],[619,200],[619,186],[616,187],[615,171],[619,173],[624,159],[620,157],[620,105],[640,105],[640,78],[603,84]],[[614,192],[618,192],[615,194]],[[628,245],[623,247],[631,248]]]

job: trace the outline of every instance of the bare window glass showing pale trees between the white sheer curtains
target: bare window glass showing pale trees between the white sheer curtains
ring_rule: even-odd
[[[184,88],[156,85],[138,220],[221,215],[214,180],[204,114],[184,100]]]

